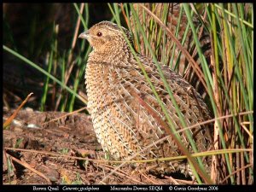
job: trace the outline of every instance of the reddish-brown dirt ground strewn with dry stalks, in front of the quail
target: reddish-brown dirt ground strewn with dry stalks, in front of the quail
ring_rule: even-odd
[[[3,122],[12,113],[3,110]],[[106,160],[90,117],[84,113],[67,116],[21,110],[3,131],[3,146],[3,184],[191,183],[171,176],[154,177],[128,165],[113,172],[119,164]]]

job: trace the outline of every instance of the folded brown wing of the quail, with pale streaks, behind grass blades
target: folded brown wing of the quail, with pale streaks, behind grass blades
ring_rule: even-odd
[[[159,73],[155,71],[152,66],[146,65],[145,67],[148,77],[154,84],[163,105],[168,111],[169,118],[172,120],[172,123],[176,126],[177,130],[181,129],[183,126],[178,118],[177,110],[160,79]],[[195,123],[200,122],[202,118],[200,108],[198,107],[198,101],[195,100],[193,94],[189,93],[189,89],[193,89],[191,88],[191,85],[176,73],[168,71],[166,68],[163,68],[163,70],[166,79],[170,84],[177,106],[183,113],[183,119],[186,124],[194,125]],[[114,91],[118,91],[119,94],[113,94],[115,97],[114,101],[116,101],[115,105],[119,108],[118,113],[121,117],[119,119],[118,127],[122,127],[122,125],[124,127],[125,125],[124,130],[129,131],[131,141],[135,146],[138,146],[137,150],[142,150],[144,146],[148,146],[149,144],[154,145],[156,141],[166,136],[165,128],[160,125],[160,121],[157,119],[159,118],[166,121],[166,117],[162,108],[160,108],[159,102],[157,102],[156,96],[154,96],[152,88],[149,86],[148,81],[138,67],[130,69],[116,68],[114,73],[119,79],[114,86]],[[197,93],[195,92],[195,94]],[[143,100],[143,102],[141,100]],[[148,110],[148,108],[150,108],[150,110]],[[205,108],[205,106],[203,106],[203,108]],[[155,117],[155,114],[158,115],[158,118]],[[190,134],[193,135],[192,131],[190,131]],[[200,126],[197,127],[197,131],[194,131],[196,142],[201,143],[199,145],[201,151],[205,150],[205,146],[207,145],[207,141],[205,141],[203,134],[204,129]],[[185,134],[182,132],[180,135],[183,138],[183,143],[189,146]],[[167,143],[169,146],[172,146],[172,153],[179,154],[179,150],[176,144],[173,143],[172,138],[169,138]],[[155,144],[153,147],[154,150],[160,150],[159,146],[161,146],[161,144]],[[153,156],[157,156],[154,155],[154,150],[151,150],[150,153],[153,154]],[[165,148],[165,150],[167,154],[171,153],[168,152],[168,148]],[[166,155],[163,152],[161,156]]]

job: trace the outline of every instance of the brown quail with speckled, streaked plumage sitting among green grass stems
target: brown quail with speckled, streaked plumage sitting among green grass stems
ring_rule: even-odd
[[[132,54],[129,44],[125,41],[124,35],[132,43],[131,34],[125,28],[123,31],[125,34],[112,22],[102,21],[79,35],[79,38],[86,38],[93,47],[87,62],[85,84],[88,109],[96,137],[102,144],[103,150],[111,154],[115,160],[127,160],[149,144],[167,135],[165,128],[137,99],[139,96],[167,124],[159,102]],[[138,53],[137,57],[154,84],[176,129],[182,129],[176,109],[154,62]],[[209,119],[207,105],[195,89],[169,67],[161,65],[161,69],[183,113],[185,123],[189,126]],[[205,126],[190,130],[199,151],[207,150],[210,145],[206,130]],[[193,152],[185,134],[180,132],[180,135],[183,144]],[[181,154],[177,144],[172,141],[172,137],[169,137],[165,142],[154,144],[154,147],[138,153],[135,159],[145,160]],[[188,172],[186,162],[173,164],[173,162],[161,161],[154,164],[157,165],[151,170],[153,173],[177,172],[182,169],[183,172]]]

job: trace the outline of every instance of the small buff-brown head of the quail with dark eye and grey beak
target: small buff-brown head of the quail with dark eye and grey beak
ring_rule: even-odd
[[[113,48],[117,48],[118,45],[122,46],[121,49],[125,49],[124,46],[129,47],[126,44],[124,35],[132,44],[131,33],[124,27],[122,27],[122,30],[112,22],[102,21],[91,26],[87,32],[82,32],[79,38],[86,38],[94,51],[109,53]]]

